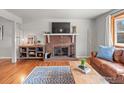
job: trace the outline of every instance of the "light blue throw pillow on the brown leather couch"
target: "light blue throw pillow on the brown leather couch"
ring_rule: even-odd
[[[99,46],[97,57],[113,61],[114,50],[114,47]]]

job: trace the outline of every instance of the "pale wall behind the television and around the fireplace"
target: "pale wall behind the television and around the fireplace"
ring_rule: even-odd
[[[78,36],[76,39],[76,56],[87,56],[87,33],[91,32],[92,20],[89,19],[39,19],[24,23],[24,37],[28,34],[39,35],[43,42],[43,33],[51,31],[51,22],[71,22],[71,27],[76,26]]]

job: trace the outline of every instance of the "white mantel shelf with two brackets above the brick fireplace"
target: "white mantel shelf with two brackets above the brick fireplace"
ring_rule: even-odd
[[[50,43],[50,36],[72,36],[72,43],[74,43],[74,37],[78,35],[77,33],[50,33],[44,34],[48,38],[48,43]]]

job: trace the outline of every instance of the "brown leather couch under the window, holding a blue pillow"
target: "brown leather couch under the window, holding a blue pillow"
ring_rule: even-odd
[[[114,51],[113,62],[96,56],[96,52],[91,53],[90,64],[94,69],[105,76],[110,83],[124,83],[124,50]]]

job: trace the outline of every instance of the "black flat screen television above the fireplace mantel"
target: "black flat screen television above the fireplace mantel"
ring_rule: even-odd
[[[52,22],[52,33],[70,33],[70,22]]]

